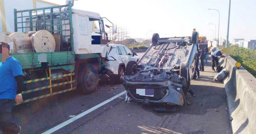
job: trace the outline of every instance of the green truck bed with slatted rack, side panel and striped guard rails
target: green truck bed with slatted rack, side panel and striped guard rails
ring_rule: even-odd
[[[29,94],[35,92],[36,95],[38,92],[43,92],[44,95],[37,96],[34,98],[29,98],[21,103],[16,103],[19,105],[22,103],[27,103],[33,100],[38,100],[41,98],[49,97],[52,95],[57,95],[63,92],[68,92],[75,90],[76,87],[73,86],[75,80],[72,79],[72,76],[75,74],[74,63],[75,63],[75,52],[73,44],[73,24],[72,24],[72,10],[71,2],[67,5],[62,6],[53,6],[53,7],[44,7],[37,9],[28,9],[17,11],[14,9],[14,25],[15,32],[29,32],[29,31],[39,31],[47,30],[52,34],[60,34],[61,37],[61,47],[60,52],[31,52],[31,53],[11,53],[10,55],[20,61],[23,71],[29,70],[33,71],[36,69],[44,69],[46,71],[46,76],[44,78],[39,77],[39,79],[27,80],[24,84],[30,84],[34,82],[48,81],[47,84],[42,84],[40,87],[28,89],[23,91],[22,94]],[[65,26],[63,29],[62,26]],[[68,28],[67,28],[68,27]],[[67,33],[69,32],[69,33]],[[68,40],[65,38],[69,37]],[[71,48],[71,49],[70,49]],[[38,61],[38,56],[42,53],[45,53],[47,56],[47,69],[41,68],[42,64]],[[33,69],[30,69],[33,68]],[[35,69],[35,70],[36,70]],[[52,70],[55,69],[65,69],[68,74],[62,74],[58,76],[53,76]],[[48,76],[49,74],[49,76]],[[56,74],[57,75],[57,74]],[[61,83],[52,84],[52,79],[64,78],[68,81],[61,81]],[[70,78],[70,79],[69,79]],[[38,83],[37,83],[38,84]],[[57,86],[68,86],[68,89],[54,88]],[[33,87],[33,86],[32,86]],[[50,89],[50,90],[47,90]],[[61,90],[60,90],[61,89]],[[50,92],[50,93],[49,93]],[[46,93],[46,94],[45,94]],[[28,97],[28,96],[27,96]]]

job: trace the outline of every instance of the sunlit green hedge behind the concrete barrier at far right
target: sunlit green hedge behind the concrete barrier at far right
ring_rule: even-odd
[[[229,46],[229,50],[230,56],[237,62],[242,63],[242,66],[256,77],[256,50],[235,45]]]

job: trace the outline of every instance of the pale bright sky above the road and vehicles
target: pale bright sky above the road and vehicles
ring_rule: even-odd
[[[45,0],[65,4],[65,0]],[[256,39],[256,0],[231,0],[229,41],[234,38]],[[78,0],[75,9],[97,12],[128,30],[132,38],[191,36],[193,28],[199,36],[226,39],[228,0]],[[213,31],[212,31],[213,30]]]

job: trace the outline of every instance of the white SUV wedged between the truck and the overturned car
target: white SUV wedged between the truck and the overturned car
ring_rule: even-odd
[[[125,75],[127,63],[129,61],[138,62],[140,57],[136,52],[132,52],[128,47],[120,44],[109,44],[110,51],[106,58],[107,74],[110,78],[118,78],[121,82],[121,76]]]

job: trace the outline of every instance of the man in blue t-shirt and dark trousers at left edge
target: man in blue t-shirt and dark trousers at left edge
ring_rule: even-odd
[[[13,122],[12,107],[15,101],[23,101],[24,79],[20,62],[10,56],[9,51],[9,44],[0,42],[0,130],[3,134],[17,134],[21,127]]]

